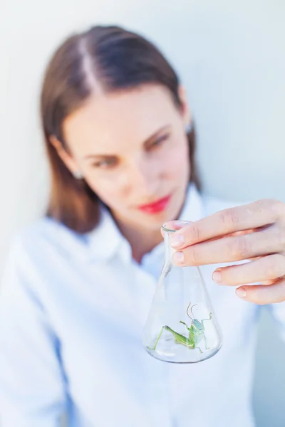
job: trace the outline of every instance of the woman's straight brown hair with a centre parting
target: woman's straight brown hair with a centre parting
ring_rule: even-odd
[[[50,142],[54,136],[66,151],[63,120],[91,95],[86,70],[105,92],[130,89],[145,83],[163,85],[177,107],[179,80],[162,53],[142,36],[118,26],[94,26],[69,37],[54,53],[43,80],[41,120],[51,167],[48,216],[78,233],[92,230],[99,219],[99,199],[82,179],[76,179]],[[195,130],[188,134],[190,181],[200,189],[195,163]]]

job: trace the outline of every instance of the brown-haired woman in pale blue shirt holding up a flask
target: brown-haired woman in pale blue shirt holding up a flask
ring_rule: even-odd
[[[253,426],[259,305],[249,301],[284,299],[281,279],[245,288],[244,301],[202,268],[224,344],[201,364],[153,359],[142,328],[164,256],[162,223],[195,221],[175,233],[176,262],[254,257],[215,266],[222,282],[253,283],[285,274],[284,206],[221,214],[226,206],[199,194],[185,91],[155,46],[123,28],[97,26],[58,48],[41,117],[51,197],[46,218],[16,238],[4,277],[3,427],[59,426],[66,411],[76,427]],[[284,306],[271,307],[285,325]]]

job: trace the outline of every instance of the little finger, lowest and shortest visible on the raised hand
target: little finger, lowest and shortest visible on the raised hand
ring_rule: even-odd
[[[282,302],[285,301],[285,280],[279,280],[279,282],[268,286],[243,285],[236,289],[236,294],[243,300],[260,305]]]

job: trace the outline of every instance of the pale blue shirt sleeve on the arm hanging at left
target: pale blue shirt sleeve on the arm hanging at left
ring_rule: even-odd
[[[1,427],[58,427],[66,406],[60,343],[29,276],[14,243],[0,297]]]

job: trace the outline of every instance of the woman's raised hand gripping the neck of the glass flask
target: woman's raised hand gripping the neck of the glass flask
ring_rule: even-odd
[[[165,224],[172,228],[172,221]],[[213,280],[243,285],[236,294],[268,304],[285,300],[285,204],[260,200],[225,209],[182,226],[170,237],[177,265],[204,265],[249,260],[218,268]],[[260,285],[245,285],[260,283]]]

